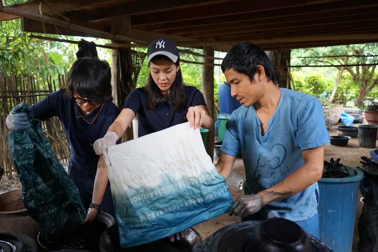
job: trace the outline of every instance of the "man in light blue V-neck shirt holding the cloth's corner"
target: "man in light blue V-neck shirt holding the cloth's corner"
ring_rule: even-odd
[[[258,46],[240,43],[227,53],[222,71],[241,104],[230,116],[217,169],[230,175],[241,153],[246,181],[229,214],[264,219],[275,210],[319,237],[317,181],[329,142],[323,109],[310,95],[278,88],[273,66]]]

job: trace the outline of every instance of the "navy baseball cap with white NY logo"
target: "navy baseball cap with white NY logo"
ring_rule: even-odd
[[[174,63],[180,59],[180,54],[178,49],[172,40],[167,38],[158,38],[152,41],[148,45],[147,49],[147,64],[151,61],[156,55],[165,55]]]

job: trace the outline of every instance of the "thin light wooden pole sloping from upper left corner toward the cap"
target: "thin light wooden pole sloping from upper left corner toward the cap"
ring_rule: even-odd
[[[42,15],[39,15],[39,14],[33,14],[33,13],[26,12],[26,11],[18,10],[18,9],[15,9],[15,8],[11,8],[11,7],[0,7],[0,12],[12,14],[12,15],[17,15],[17,16],[20,16],[20,17],[25,17],[25,18],[29,18],[29,19],[32,19],[32,20],[36,20],[36,21],[40,21],[40,22],[44,22],[44,23],[48,23],[48,24],[52,24],[52,25],[57,25],[57,26],[69,28],[69,29],[74,30],[74,31],[93,34],[93,35],[103,37],[103,38],[117,39],[117,40],[122,40],[122,41],[142,42],[142,43],[146,42],[146,41],[143,41],[143,40],[129,38],[129,37],[122,36],[122,35],[111,34],[109,32],[98,31],[98,30],[91,29],[91,28],[88,28],[88,27],[72,24],[72,23],[69,23],[67,21],[62,21],[62,20],[42,16]]]

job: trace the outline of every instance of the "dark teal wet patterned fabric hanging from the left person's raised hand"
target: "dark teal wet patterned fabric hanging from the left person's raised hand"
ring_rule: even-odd
[[[31,127],[11,131],[9,146],[22,184],[22,201],[40,222],[40,238],[48,243],[74,230],[86,211],[78,188],[51,151],[40,121],[33,119],[28,107],[23,102],[13,109],[13,113],[27,113]]]

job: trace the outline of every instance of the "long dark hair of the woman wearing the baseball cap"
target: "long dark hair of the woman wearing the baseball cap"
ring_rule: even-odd
[[[167,56],[156,55],[151,59],[152,62],[155,60],[170,60]],[[180,66],[180,61],[177,60],[175,63],[177,67]],[[173,84],[170,88],[169,96],[164,96],[160,93],[158,85],[155,83],[154,79],[151,76],[148,79],[148,84],[145,88],[147,93],[147,108],[151,110],[156,110],[161,107],[164,102],[168,102],[169,106],[173,110],[179,110],[185,106],[185,93],[184,93],[184,83],[182,80],[181,68],[176,73],[176,78],[173,81]]]

